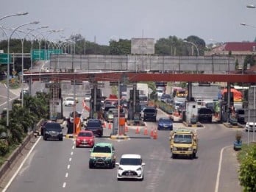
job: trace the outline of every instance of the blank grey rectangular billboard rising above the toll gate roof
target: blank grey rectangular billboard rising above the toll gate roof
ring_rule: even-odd
[[[154,54],[154,38],[132,38],[132,54]]]

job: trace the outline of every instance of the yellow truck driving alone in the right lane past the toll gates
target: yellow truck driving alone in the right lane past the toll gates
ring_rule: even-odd
[[[185,155],[196,157],[198,150],[198,138],[195,132],[191,129],[179,128],[170,132],[170,149],[171,157],[175,158],[177,155]]]

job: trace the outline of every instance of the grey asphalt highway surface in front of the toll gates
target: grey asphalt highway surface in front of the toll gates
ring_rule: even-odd
[[[82,110],[79,100],[77,110]],[[81,108],[79,108],[81,107]],[[68,114],[73,107],[64,107]],[[157,118],[165,116],[158,110]],[[148,127],[156,123],[147,122]],[[174,123],[174,129],[184,127]],[[158,131],[158,138],[141,138],[143,132],[135,134],[136,127],[129,127],[125,140],[96,138],[96,142],[113,143],[117,160],[124,153],[138,153],[143,157],[145,178],[143,181],[117,181],[116,169],[89,169],[89,148],[76,148],[74,140],[43,141],[38,138],[35,147],[26,157],[21,169],[13,176],[8,192],[17,191],[242,191],[238,182],[238,162],[232,150],[235,129],[222,124],[205,124],[203,128],[192,128],[198,133],[199,152],[196,159],[172,159],[169,149],[169,132]],[[104,129],[104,135],[110,135]],[[243,141],[246,134],[243,132]],[[251,133],[250,133],[251,135]],[[5,189],[4,189],[5,191]]]

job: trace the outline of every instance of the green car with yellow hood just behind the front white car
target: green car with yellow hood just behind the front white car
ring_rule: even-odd
[[[112,143],[96,143],[90,149],[89,168],[94,167],[115,167],[115,148]]]

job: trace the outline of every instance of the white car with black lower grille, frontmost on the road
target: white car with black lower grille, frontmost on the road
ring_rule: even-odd
[[[142,162],[140,154],[123,154],[118,166],[117,179],[141,179],[143,180],[143,169],[146,165]]]

